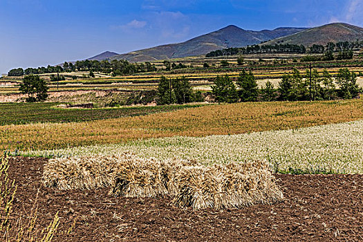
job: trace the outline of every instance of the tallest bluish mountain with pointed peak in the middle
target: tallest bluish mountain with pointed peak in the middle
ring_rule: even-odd
[[[115,55],[111,59],[127,59],[130,62],[147,62],[156,59],[171,59],[195,55],[205,55],[213,50],[229,47],[242,47],[260,44],[286,35],[292,35],[305,28],[276,28],[274,30],[243,30],[234,25],[221,28],[215,32],[189,39],[179,44],[167,44],[131,53]]]

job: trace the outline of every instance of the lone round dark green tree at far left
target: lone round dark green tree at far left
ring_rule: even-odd
[[[20,84],[19,91],[28,94],[26,102],[43,102],[48,97],[48,86],[39,75],[26,75]]]

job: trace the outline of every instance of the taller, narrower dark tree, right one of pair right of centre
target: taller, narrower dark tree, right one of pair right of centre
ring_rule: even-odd
[[[259,86],[252,74],[252,71],[246,73],[243,70],[237,79],[237,86],[239,86],[239,97],[242,102],[254,102],[259,96]]]

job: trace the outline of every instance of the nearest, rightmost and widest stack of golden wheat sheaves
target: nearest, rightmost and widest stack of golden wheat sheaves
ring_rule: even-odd
[[[239,208],[283,198],[265,162],[182,167],[176,183],[174,204],[194,209]]]

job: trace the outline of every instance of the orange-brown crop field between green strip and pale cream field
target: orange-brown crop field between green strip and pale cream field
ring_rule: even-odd
[[[4,125],[0,147],[10,151],[62,149],[146,138],[299,129],[362,118],[362,100],[218,104],[89,122]]]

